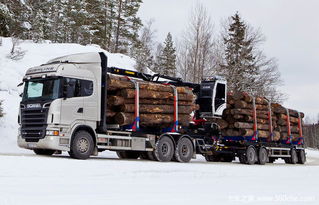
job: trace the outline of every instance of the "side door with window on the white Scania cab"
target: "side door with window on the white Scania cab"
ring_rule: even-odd
[[[72,125],[77,120],[83,120],[83,98],[80,96],[79,80],[64,79],[64,99],[61,101],[60,122]]]

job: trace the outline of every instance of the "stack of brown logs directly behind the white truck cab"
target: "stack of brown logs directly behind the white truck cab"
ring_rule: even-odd
[[[174,123],[174,90],[170,85],[154,82],[139,83],[140,126],[169,127]],[[110,124],[131,125],[135,120],[135,84],[127,78],[108,75],[107,118]],[[191,113],[198,109],[195,96],[188,87],[176,87],[178,93],[178,121],[187,126]]]

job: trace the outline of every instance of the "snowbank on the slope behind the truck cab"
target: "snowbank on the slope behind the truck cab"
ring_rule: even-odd
[[[113,54],[97,45],[82,46],[79,44],[33,43],[21,41],[18,45],[26,54],[23,59],[15,61],[7,58],[12,47],[11,38],[2,38],[0,46],[0,100],[4,100],[3,108],[6,115],[0,118],[0,147],[6,152],[17,152],[16,138],[18,133],[18,108],[22,88],[17,88],[26,70],[47,61],[69,54],[84,52],[104,52],[108,56],[108,65],[128,70],[135,70],[134,59],[123,54]],[[22,151],[23,152],[23,151]]]

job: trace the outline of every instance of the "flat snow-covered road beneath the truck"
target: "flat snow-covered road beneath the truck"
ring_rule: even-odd
[[[318,204],[319,152],[306,165],[90,160],[0,154],[0,205]]]

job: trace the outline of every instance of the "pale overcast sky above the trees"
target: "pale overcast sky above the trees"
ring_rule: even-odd
[[[285,106],[314,119],[319,113],[319,0],[143,0],[143,22],[154,19],[157,40],[181,36],[191,8],[201,2],[218,29],[236,11],[266,36],[268,57],[278,59],[288,95]]]

